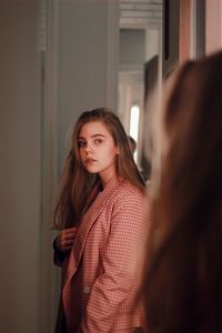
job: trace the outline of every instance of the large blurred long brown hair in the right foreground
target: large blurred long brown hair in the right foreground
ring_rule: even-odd
[[[142,286],[148,329],[219,333],[222,52],[182,65],[162,117],[168,151],[152,200]]]

